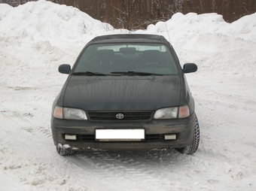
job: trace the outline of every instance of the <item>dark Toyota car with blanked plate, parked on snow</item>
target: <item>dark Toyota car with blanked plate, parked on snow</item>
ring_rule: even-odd
[[[57,151],[172,147],[196,152],[199,126],[184,76],[194,71],[192,63],[181,68],[163,36],[94,38],[72,68],[59,66],[69,77],[52,108]]]

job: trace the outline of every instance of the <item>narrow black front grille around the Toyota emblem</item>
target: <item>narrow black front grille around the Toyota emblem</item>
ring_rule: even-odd
[[[89,111],[90,120],[150,120],[152,111]],[[123,114],[117,119],[117,114]]]

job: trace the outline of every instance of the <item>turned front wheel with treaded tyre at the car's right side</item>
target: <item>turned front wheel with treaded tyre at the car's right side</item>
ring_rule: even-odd
[[[200,127],[199,127],[199,123],[196,115],[196,126],[195,126],[193,143],[190,146],[178,148],[176,150],[178,150],[178,152],[182,154],[188,154],[188,155],[196,153],[199,146],[199,142],[200,142]]]

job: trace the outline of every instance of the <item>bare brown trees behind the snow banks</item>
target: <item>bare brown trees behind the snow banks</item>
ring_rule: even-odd
[[[11,6],[37,0],[0,0]],[[255,0],[49,0],[71,5],[114,28],[145,29],[150,23],[168,20],[173,14],[218,13],[233,22],[256,12]]]

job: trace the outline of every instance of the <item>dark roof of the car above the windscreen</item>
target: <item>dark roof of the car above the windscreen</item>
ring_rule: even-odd
[[[96,38],[93,38],[89,44],[98,44],[98,43],[161,43],[169,45],[169,42],[161,35],[144,35],[144,34],[119,34],[119,35],[102,35]]]

